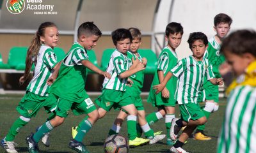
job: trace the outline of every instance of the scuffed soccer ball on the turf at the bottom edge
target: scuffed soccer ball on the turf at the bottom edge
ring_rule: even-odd
[[[105,140],[104,152],[106,153],[127,153],[128,150],[127,139],[122,135],[111,135]]]

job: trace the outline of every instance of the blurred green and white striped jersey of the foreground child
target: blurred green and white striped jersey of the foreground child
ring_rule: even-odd
[[[217,152],[256,152],[256,87],[237,86],[228,96]]]

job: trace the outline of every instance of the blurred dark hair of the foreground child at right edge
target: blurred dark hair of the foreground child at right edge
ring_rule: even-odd
[[[256,32],[246,29],[234,31],[223,40],[220,52],[236,55],[250,53],[256,57]]]

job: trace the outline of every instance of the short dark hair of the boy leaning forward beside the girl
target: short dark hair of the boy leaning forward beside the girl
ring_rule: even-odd
[[[80,36],[101,36],[100,29],[93,24],[93,22],[84,22],[81,24],[77,30],[77,37],[79,38]]]

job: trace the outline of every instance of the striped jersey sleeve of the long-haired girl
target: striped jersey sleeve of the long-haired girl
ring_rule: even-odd
[[[52,69],[57,64],[57,57],[51,49],[47,49],[45,50],[43,61],[49,68]]]

